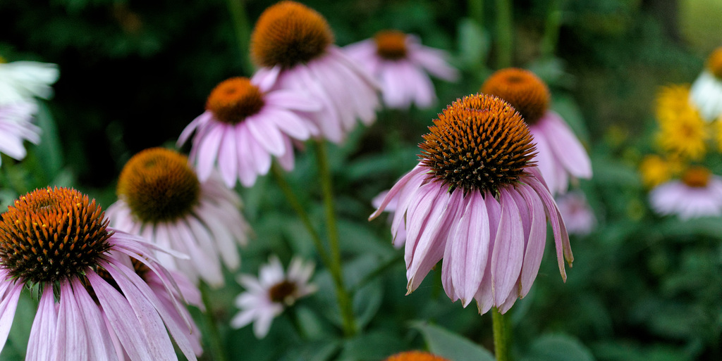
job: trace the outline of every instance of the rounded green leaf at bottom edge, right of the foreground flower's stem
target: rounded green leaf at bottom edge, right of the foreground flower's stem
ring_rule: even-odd
[[[594,361],[594,357],[577,339],[553,334],[537,339],[521,361]]]

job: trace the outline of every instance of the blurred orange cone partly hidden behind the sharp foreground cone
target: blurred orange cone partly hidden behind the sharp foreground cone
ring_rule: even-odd
[[[495,95],[515,107],[527,124],[533,125],[549,107],[549,88],[531,71],[505,68],[484,81],[482,93]]]

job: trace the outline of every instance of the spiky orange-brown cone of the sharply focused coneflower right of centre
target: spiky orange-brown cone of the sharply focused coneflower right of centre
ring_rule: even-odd
[[[503,99],[474,94],[446,107],[424,135],[422,164],[450,191],[513,184],[534,165],[534,143],[521,115]]]

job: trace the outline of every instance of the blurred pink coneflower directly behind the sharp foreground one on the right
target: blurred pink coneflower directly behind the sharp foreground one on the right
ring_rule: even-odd
[[[538,151],[534,160],[552,193],[566,192],[570,177],[591,178],[586,150],[562,117],[549,110],[549,89],[538,76],[520,68],[501,69],[484,81],[481,92],[504,99],[529,125]]]

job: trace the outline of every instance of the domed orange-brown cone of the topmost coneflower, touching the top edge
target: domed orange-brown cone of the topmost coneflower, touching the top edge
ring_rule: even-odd
[[[251,57],[259,66],[291,68],[326,52],[334,34],[326,19],[295,1],[269,6],[251,35]]]

